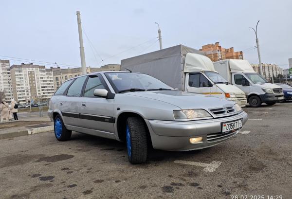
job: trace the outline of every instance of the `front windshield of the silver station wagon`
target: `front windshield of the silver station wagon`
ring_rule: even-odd
[[[145,90],[173,90],[162,81],[136,72],[107,72],[110,84],[117,92]]]

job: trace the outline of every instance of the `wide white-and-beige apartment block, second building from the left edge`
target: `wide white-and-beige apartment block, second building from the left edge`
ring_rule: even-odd
[[[33,63],[10,67],[13,95],[19,104],[49,101],[53,96],[54,80],[52,69]]]

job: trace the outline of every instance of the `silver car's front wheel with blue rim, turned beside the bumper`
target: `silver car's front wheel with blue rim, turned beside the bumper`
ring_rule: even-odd
[[[132,164],[144,163],[147,159],[146,127],[141,118],[129,117],[126,124],[128,160]]]

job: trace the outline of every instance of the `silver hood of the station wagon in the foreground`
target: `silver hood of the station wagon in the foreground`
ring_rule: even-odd
[[[181,109],[212,109],[235,104],[235,102],[226,99],[183,92],[180,90],[138,91],[124,94],[163,101]]]

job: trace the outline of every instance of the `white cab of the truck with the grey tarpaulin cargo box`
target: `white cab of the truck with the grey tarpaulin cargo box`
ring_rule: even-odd
[[[185,91],[226,98],[245,107],[247,102],[245,93],[215,71],[208,57],[201,54],[186,54],[183,72]]]

